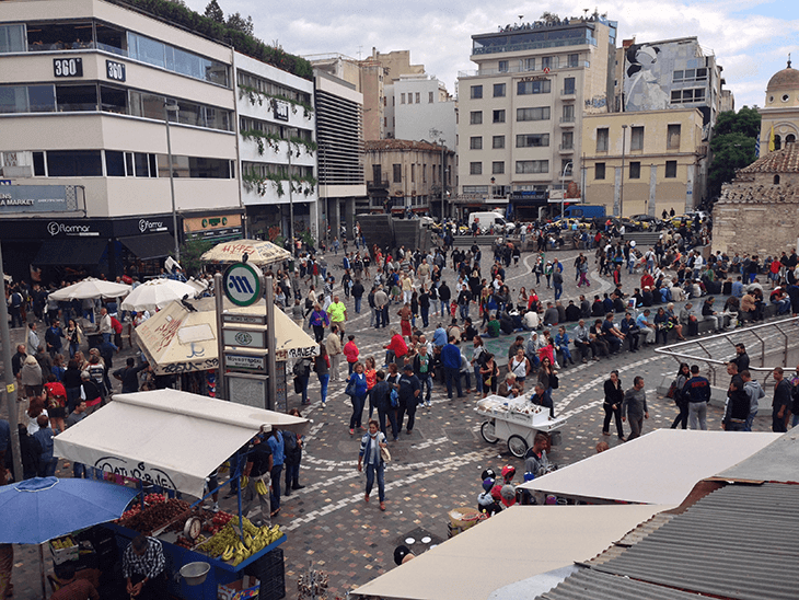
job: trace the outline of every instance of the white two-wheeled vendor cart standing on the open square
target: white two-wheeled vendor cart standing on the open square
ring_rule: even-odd
[[[524,458],[533,446],[535,434],[549,437],[552,446],[560,443],[560,431],[566,417],[549,418],[549,408],[532,404],[529,396],[507,399],[490,395],[477,402],[475,408],[486,420],[480,425],[480,436],[488,443],[500,439],[508,443],[508,451],[517,458]]]

